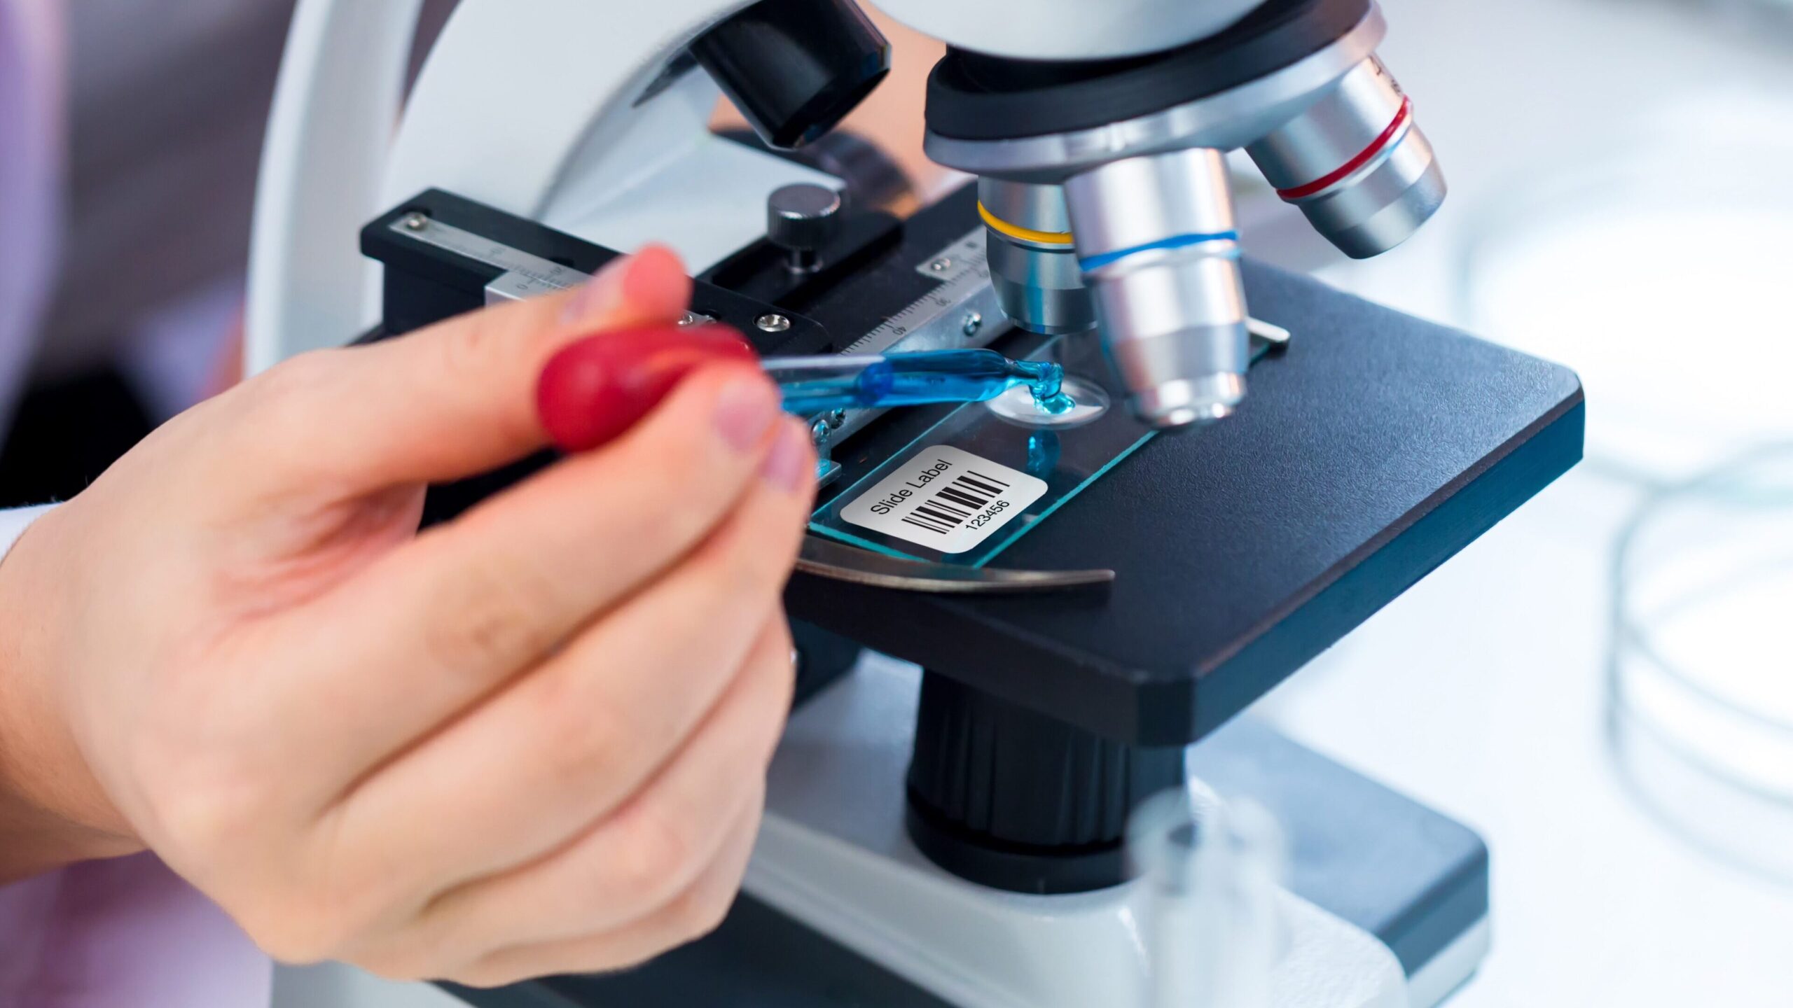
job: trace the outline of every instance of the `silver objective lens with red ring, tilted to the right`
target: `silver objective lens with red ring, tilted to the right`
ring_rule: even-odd
[[[1277,194],[1352,258],[1408,240],[1445,199],[1413,104],[1375,57],[1246,152]]]

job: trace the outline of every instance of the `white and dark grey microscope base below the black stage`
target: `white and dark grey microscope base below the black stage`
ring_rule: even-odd
[[[918,680],[913,665],[868,656],[796,712],[748,895],[717,934],[631,974],[461,997],[482,1008],[1142,1004],[1137,886],[1004,893],[909,843],[902,780]],[[1277,1008],[1429,1008],[1479,965],[1486,856],[1474,834],[1252,723],[1198,744],[1191,769],[1223,795],[1252,795],[1289,832]]]

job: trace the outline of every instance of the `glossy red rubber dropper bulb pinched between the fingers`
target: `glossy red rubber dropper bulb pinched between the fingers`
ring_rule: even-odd
[[[536,413],[563,452],[590,452],[653,413],[685,375],[723,361],[758,366],[733,328],[674,325],[604,332],[556,353],[536,382]]]

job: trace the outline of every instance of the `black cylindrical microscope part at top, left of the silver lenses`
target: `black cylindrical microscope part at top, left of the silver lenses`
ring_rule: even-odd
[[[760,0],[690,47],[760,140],[796,149],[834,129],[891,68],[852,0]]]

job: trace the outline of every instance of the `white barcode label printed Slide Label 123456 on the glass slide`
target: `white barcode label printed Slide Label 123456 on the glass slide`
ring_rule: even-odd
[[[941,445],[841,508],[841,518],[940,552],[966,552],[1040,497],[1044,479]]]

